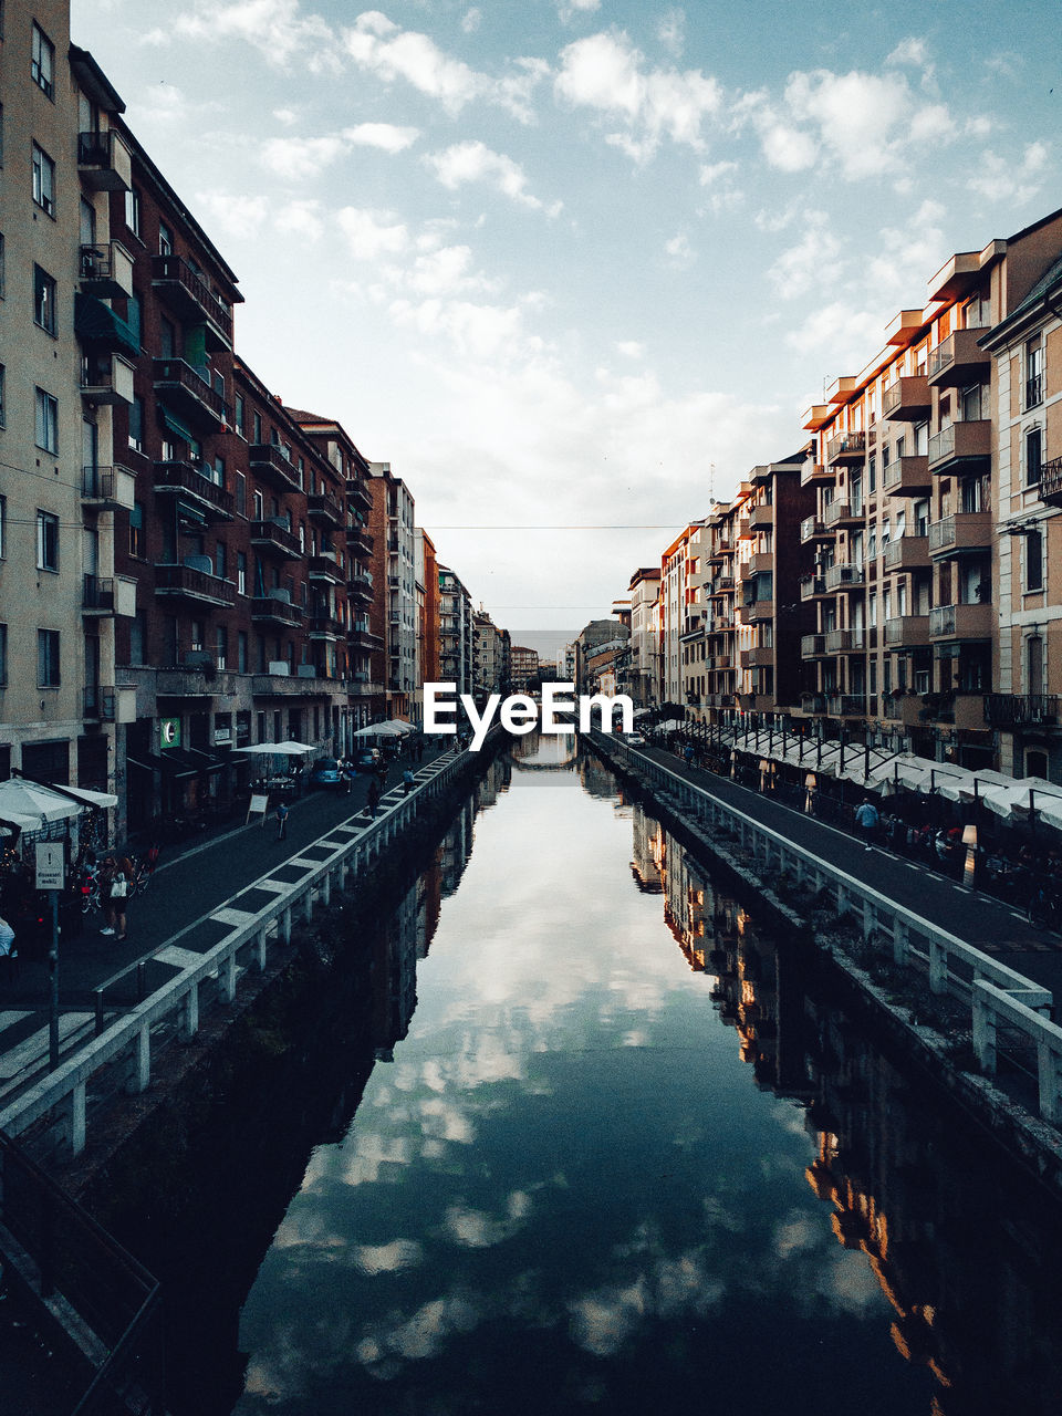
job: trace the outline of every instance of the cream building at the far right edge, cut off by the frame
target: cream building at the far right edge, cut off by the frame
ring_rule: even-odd
[[[1000,767],[1062,780],[1062,259],[980,340],[994,360]]]

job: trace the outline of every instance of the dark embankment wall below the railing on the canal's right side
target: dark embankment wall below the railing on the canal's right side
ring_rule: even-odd
[[[908,1072],[913,1069],[919,1086],[957,1103],[1008,1157],[1062,1198],[1062,1133],[978,1073],[969,1012],[964,1024],[957,1021],[961,1010],[949,1010],[947,1000],[933,998],[922,973],[908,971],[899,980],[885,953],[875,952],[850,919],[838,916],[824,893],[809,898],[776,872],[765,878],[735,835],[705,826],[677,794],[651,782],[630,759],[622,759],[607,739],[595,735],[582,741],[695,857],[711,865],[738,899],[755,905],[782,947],[800,950],[809,969],[823,971],[838,1003],[865,1022],[868,1037],[891,1061]],[[1035,1104],[1035,1085],[1031,1100]]]

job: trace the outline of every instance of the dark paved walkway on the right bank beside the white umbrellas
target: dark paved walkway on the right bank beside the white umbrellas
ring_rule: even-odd
[[[845,831],[817,821],[813,816],[775,800],[769,793],[755,792],[715,772],[687,767],[675,753],[664,748],[637,750],[670,767],[677,776],[695,782],[726,806],[743,811],[820,860],[871,885],[898,905],[1051,988],[1062,1001],[1062,940],[1035,929],[1020,910],[990,895],[967,891],[956,881],[918,861],[893,855],[884,847],[874,845],[867,851],[861,840],[854,840]]]

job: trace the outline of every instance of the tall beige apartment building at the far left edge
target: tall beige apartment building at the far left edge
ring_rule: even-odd
[[[112,790],[130,711],[115,690],[115,617],[132,613],[133,586],[112,565],[132,479],[110,464],[132,368],[119,344],[98,357],[85,336],[130,280],[109,229],[109,190],[129,184],[112,126],[123,103],[71,45],[62,0],[11,0],[3,24],[0,776]]]

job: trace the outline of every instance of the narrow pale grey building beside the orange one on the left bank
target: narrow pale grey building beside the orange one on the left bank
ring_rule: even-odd
[[[389,462],[368,464],[372,497],[372,573],[381,588],[372,632],[384,641],[374,654],[372,677],[384,684],[384,716],[409,718],[416,697],[415,504]]]

